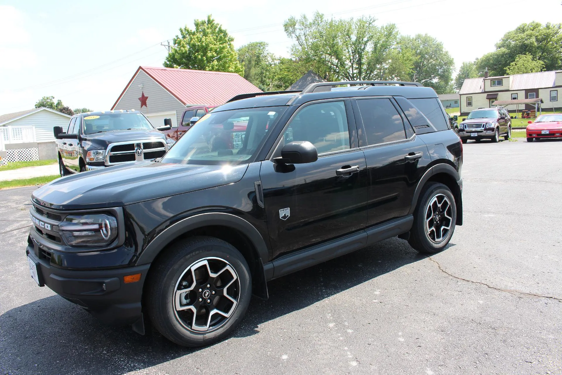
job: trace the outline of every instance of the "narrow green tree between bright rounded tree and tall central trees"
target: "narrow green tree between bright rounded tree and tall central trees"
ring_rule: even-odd
[[[268,51],[268,43],[248,43],[238,48],[237,53],[244,68],[244,78],[263,91],[271,91],[278,58]]]

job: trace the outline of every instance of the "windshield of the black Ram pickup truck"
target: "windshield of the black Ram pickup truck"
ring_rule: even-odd
[[[108,113],[84,117],[84,134],[113,130],[154,129],[140,113]]]

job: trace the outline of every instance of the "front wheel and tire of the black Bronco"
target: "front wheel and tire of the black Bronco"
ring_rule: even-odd
[[[197,347],[222,340],[238,326],[250,304],[248,264],[230,243],[218,238],[175,243],[150,272],[144,299],[148,315],[158,332],[178,345]],[[224,314],[209,315],[215,310]]]

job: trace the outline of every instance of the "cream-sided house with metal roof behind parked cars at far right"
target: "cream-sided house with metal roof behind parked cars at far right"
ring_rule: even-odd
[[[490,108],[496,101],[536,100],[541,103],[542,109],[562,111],[562,99],[559,98],[562,94],[562,70],[467,78],[459,94],[462,116],[478,108]],[[530,103],[515,103],[502,106],[510,112],[535,109],[535,105]]]

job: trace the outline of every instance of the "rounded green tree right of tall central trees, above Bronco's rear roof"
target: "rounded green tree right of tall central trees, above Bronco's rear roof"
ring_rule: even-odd
[[[414,37],[402,37],[400,46],[414,55],[411,80],[433,87],[439,94],[451,91],[455,62],[443,48],[443,43],[428,34],[416,34]]]

